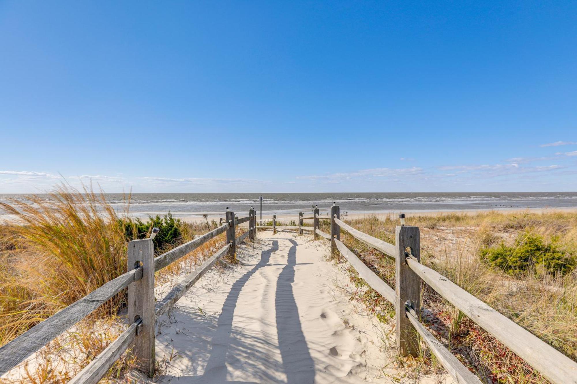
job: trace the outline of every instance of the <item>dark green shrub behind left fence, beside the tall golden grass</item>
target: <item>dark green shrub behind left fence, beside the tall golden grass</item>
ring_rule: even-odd
[[[173,215],[168,212],[163,217],[157,214],[155,217],[148,217],[145,223],[137,218],[123,223],[125,227],[125,237],[127,241],[134,239],[145,239],[150,236],[152,228],[160,229],[156,237],[152,240],[154,249],[158,251],[166,250],[178,244],[182,240],[181,221],[174,219]]]

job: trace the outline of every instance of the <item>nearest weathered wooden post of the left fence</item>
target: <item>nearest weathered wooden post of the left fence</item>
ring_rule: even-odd
[[[132,353],[141,362],[148,377],[155,368],[155,308],[154,308],[154,244],[152,239],[132,240],[128,243],[128,270],[143,267],[143,278],[128,286],[129,323],[142,321],[137,328]]]

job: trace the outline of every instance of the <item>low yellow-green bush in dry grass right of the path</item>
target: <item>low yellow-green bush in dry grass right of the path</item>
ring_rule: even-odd
[[[557,238],[545,242],[542,236],[530,231],[519,234],[512,247],[504,242],[498,246],[483,247],[481,259],[493,268],[519,276],[533,271],[535,274],[544,272],[564,275],[571,272],[577,264],[577,259],[568,251],[561,249]]]

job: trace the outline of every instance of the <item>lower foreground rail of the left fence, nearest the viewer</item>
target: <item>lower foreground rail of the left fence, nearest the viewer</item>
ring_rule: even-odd
[[[96,384],[107,374],[108,370],[122,356],[122,353],[132,344],[136,338],[137,323],[132,323],[113,342],[100,352],[92,361],[84,367],[68,384]]]

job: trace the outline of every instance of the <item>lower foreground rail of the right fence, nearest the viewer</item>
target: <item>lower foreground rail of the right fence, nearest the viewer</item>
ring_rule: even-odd
[[[407,308],[407,318],[409,318],[411,324],[413,324],[417,332],[429,346],[433,355],[435,355],[437,360],[443,364],[443,367],[445,367],[447,372],[449,372],[449,375],[455,379],[455,382],[459,384],[482,384],[481,380],[479,380],[473,372],[469,371],[467,367],[459,362],[459,359],[457,359],[451,351],[445,348],[443,343],[437,340],[437,338],[419,322],[417,313],[415,313],[413,308]]]

